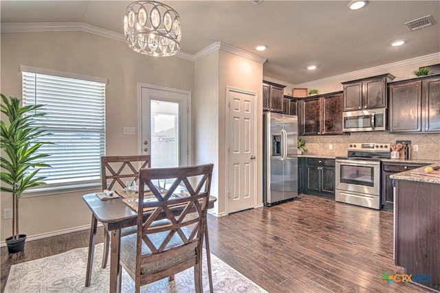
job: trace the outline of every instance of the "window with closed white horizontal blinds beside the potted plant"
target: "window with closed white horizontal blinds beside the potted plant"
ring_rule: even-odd
[[[52,166],[40,170],[39,175],[47,177],[46,185],[41,187],[100,183],[100,157],[105,155],[107,80],[32,67],[21,67],[21,72],[23,106],[45,105],[40,109],[45,117],[35,124],[45,126],[51,133],[42,140],[53,143],[39,149],[50,154],[42,160]]]

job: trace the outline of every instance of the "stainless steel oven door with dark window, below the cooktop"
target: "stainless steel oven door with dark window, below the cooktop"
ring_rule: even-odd
[[[380,161],[336,160],[336,189],[380,195]]]

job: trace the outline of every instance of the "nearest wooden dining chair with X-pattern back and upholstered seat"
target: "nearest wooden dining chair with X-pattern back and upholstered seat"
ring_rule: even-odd
[[[190,267],[194,267],[195,292],[202,292],[202,243],[212,167],[207,164],[140,170],[137,233],[123,236],[120,241],[120,263],[135,281],[135,292],[140,292],[142,285]],[[165,191],[157,187],[164,180]],[[145,191],[146,187],[149,191]],[[144,211],[148,211],[148,217]],[[158,220],[168,224],[153,224]],[[119,286],[121,281],[120,278]]]

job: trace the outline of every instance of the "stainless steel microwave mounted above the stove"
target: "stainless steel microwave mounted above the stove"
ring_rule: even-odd
[[[342,131],[387,130],[387,109],[358,110],[342,113]]]

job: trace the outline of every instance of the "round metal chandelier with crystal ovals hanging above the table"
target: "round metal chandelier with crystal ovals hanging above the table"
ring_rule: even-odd
[[[124,16],[126,43],[141,54],[167,57],[180,51],[180,17],[157,1],[135,1]]]

